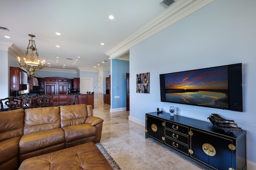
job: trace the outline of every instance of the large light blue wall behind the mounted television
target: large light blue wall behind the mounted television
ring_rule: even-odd
[[[256,1],[215,0],[130,49],[130,117],[168,112],[208,121],[217,113],[247,130],[247,158],[256,162]],[[244,112],[160,102],[159,74],[242,63]],[[136,74],[150,72],[150,94],[136,93]],[[252,162],[253,161],[253,162]]]

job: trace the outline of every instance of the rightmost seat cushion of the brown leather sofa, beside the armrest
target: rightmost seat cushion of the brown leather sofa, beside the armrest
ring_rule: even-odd
[[[75,141],[78,139],[95,136],[97,127],[90,124],[80,124],[75,126],[66,126],[62,128],[65,131],[65,141]]]

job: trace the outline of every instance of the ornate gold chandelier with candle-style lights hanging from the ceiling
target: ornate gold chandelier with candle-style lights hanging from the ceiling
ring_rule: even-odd
[[[35,35],[32,34],[28,34],[31,37],[31,40],[29,40],[28,43],[28,47],[27,47],[27,51],[25,53],[25,58],[24,58],[24,64],[20,64],[20,57],[18,57],[18,65],[21,68],[24,68],[28,74],[30,74],[30,76],[34,77],[34,74],[36,74],[37,71],[41,70],[42,68],[44,68],[44,61],[42,61],[42,64],[40,64],[39,58],[38,58],[38,53],[37,53],[37,49],[36,49],[36,44],[35,41],[33,40],[33,37],[36,37]],[[32,52],[30,53],[30,58],[27,59],[27,55],[28,55],[28,49],[30,49]],[[37,60],[34,58],[34,53],[33,51],[36,50],[36,57]]]

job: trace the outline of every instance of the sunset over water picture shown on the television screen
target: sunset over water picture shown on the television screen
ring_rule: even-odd
[[[228,109],[228,66],[165,74],[166,101]]]

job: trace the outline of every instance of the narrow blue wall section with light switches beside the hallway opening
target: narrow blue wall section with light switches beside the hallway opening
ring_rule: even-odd
[[[129,61],[114,59],[111,62],[111,108],[123,108],[126,107],[126,73],[129,73]]]

